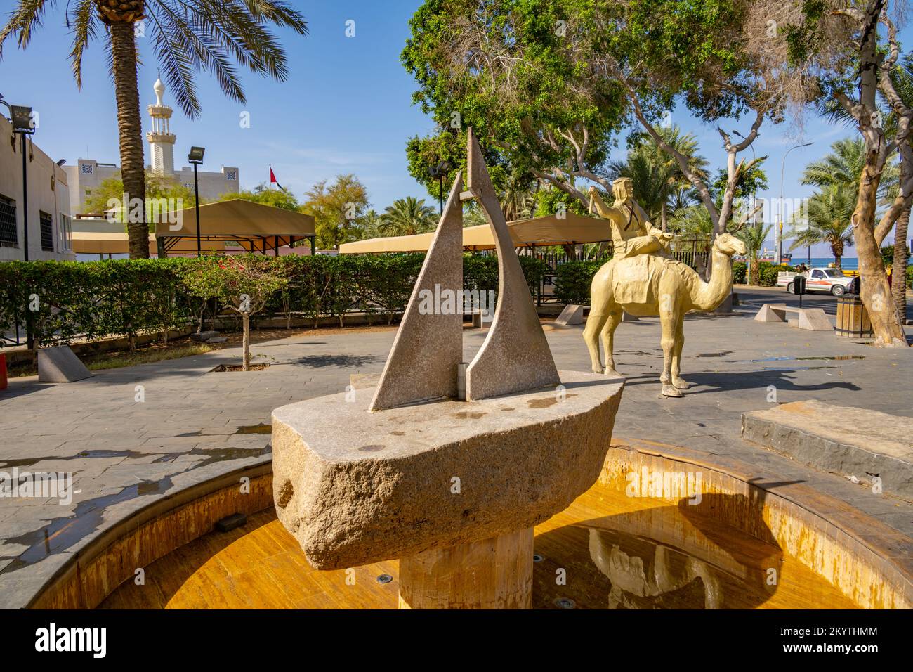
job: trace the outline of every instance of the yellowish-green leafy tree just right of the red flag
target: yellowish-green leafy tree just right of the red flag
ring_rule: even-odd
[[[301,212],[314,218],[321,250],[339,250],[341,243],[358,240],[359,222],[369,205],[368,191],[358,177],[337,176],[331,185],[321,180],[305,196]]]

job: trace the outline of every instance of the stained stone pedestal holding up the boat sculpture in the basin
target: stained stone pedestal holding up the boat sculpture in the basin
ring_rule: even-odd
[[[400,560],[400,609],[529,609],[532,528]]]

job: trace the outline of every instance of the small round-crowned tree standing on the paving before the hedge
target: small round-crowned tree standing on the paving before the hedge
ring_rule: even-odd
[[[242,370],[250,369],[250,316],[263,310],[270,296],[288,282],[271,257],[254,254],[204,257],[182,275],[187,291],[204,299],[215,298],[241,315],[244,325]]]

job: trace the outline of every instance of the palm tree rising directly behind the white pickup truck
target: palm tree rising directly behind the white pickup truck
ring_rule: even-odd
[[[841,268],[844,249],[853,244],[856,185],[824,187],[809,198],[807,223],[793,219],[791,249],[826,242],[834,253],[834,265]]]

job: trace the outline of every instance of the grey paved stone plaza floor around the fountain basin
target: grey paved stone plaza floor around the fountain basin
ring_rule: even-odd
[[[801,480],[913,536],[913,506],[876,496],[845,478],[745,443],[740,414],[779,403],[822,400],[913,416],[913,349],[876,349],[830,333],[761,324],[762,303],[796,298],[782,290],[739,290],[733,315],[690,315],[682,399],[658,398],[662,367],[656,318],[624,323],[615,336],[627,378],[614,437],[674,443],[756,464]],[[830,296],[805,304],[834,315]],[[545,326],[560,369],[589,370],[582,325]],[[0,497],[0,606],[26,603],[37,587],[92,536],[155,497],[269,460],[270,411],[346,388],[353,373],[383,368],[395,328],[309,332],[255,343],[265,370],[214,372],[237,363],[240,348],[96,372],[69,384],[12,379],[0,392],[0,471],[64,472],[79,491],[58,499]],[[466,330],[466,359],[485,332]],[[421,371],[416,371],[421,375]],[[357,393],[357,392],[356,392]],[[775,486],[774,486],[775,487]]]

